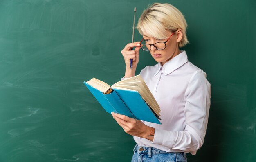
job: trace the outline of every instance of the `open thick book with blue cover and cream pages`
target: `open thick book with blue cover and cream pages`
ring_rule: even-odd
[[[106,112],[158,123],[160,107],[140,75],[112,85],[92,78],[84,82]]]

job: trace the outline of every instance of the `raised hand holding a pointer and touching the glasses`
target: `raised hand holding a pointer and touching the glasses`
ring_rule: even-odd
[[[133,47],[136,47],[135,50],[131,50]],[[130,59],[132,59],[132,68],[136,69],[139,63],[139,49],[140,42],[128,43],[124,49],[121,51],[124,62],[126,64],[126,69],[130,69]]]

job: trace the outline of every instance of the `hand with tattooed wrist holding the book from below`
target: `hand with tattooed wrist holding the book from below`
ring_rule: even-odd
[[[145,125],[141,120],[136,120],[113,112],[111,114],[126,133],[132,136],[146,138],[151,141],[154,140],[155,128]]]

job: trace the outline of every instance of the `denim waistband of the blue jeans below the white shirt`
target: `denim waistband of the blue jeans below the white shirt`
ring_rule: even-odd
[[[163,150],[159,150],[155,147],[138,146],[138,144],[135,145],[133,151],[134,151],[134,153],[136,151],[138,154],[144,154],[144,153],[148,154],[148,157],[151,157],[151,154],[162,154],[162,153],[180,153],[184,157],[186,156],[186,153],[184,153],[184,152],[166,152]]]

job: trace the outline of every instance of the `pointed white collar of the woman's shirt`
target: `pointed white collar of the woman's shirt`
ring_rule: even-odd
[[[155,72],[155,75],[157,75],[161,70],[163,70],[164,75],[168,75],[177,68],[180,68],[180,66],[184,65],[186,62],[188,62],[189,60],[188,56],[186,55],[186,51],[181,52],[182,53],[178,54],[177,56],[166,62],[164,66],[162,66],[162,64],[159,62],[157,64],[157,71]]]

